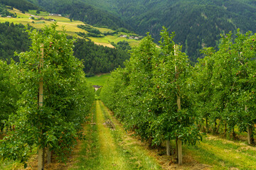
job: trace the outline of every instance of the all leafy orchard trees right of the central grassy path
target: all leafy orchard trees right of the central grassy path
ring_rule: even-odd
[[[156,47],[151,36],[112,72],[101,98],[151,145],[181,140],[195,145],[200,130],[248,132],[256,123],[256,35],[223,35],[218,51],[207,47],[195,66],[164,28]]]

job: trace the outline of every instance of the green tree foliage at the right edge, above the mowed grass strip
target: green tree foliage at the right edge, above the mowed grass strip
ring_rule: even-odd
[[[246,132],[247,126],[256,123],[255,39],[252,33],[238,30],[234,38],[232,33],[221,38],[219,51],[203,50],[206,57],[197,64],[195,74],[197,110],[210,120],[214,132],[220,128],[231,132],[235,125]]]

